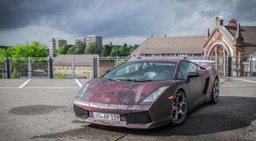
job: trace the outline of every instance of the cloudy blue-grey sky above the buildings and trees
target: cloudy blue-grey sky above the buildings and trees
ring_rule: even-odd
[[[0,0],[0,45],[100,35],[103,44],[141,44],[151,35],[206,35],[234,18],[256,26],[254,0]]]

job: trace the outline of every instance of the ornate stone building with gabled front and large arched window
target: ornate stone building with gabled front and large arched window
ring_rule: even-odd
[[[256,51],[256,26],[240,26],[235,19],[224,26],[223,21],[221,16],[217,16],[216,27],[211,34],[208,28],[203,44],[204,55],[216,56],[215,67],[221,72],[220,76],[227,76],[226,56],[237,56],[233,58],[233,76],[248,76],[248,67],[243,65],[246,60],[241,56],[250,56]]]

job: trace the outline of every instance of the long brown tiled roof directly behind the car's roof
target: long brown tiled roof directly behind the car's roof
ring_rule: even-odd
[[[147,38],[131,55],[203,53],[205,36]]]

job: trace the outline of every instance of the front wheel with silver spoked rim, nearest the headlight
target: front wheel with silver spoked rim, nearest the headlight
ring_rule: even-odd
[[[175,94],[174,102],[172,103],[171,111],[171,125],[179,126],[183,123],[187,115],[187,99],[185,94],[181,91],[178,91]]]

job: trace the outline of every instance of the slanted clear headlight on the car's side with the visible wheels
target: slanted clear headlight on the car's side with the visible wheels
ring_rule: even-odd
[[[139,105],[151,105],[151,103],[154,102],[155,99],[158,98],[168,87],[169,86],[163,86],[158,88],[149,96],[147,96],[141,103],[139,103]]]

